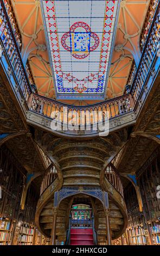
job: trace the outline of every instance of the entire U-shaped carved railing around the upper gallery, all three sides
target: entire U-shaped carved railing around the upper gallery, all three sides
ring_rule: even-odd
[[[94,105],[82,106],[71,106],[65,103],[60,103],[53,99],[48,99],[37,95],[32,92],[30,87],[30,82],[33,82],[33,77],[31,77],[29,66],[27,72],[22,63],[20,49],[18,48],[15,35],[12,31],[12,26],[10,19],[8,17],[7,9],[3,1],[0,3],[0,15],[2,17],[0,24],[0,42],[1,51],[7,54],[8,61],[10,63],[10,68],[12,69],[14,75],[17,79],[17,85],[20,87],[25,101],[28,103],[28,109],[32,113],[37,113],[39,116],[49,118],[50,120],[56,119],[57,114],[60,114],[60,120],[67,124],[74,116],[75,125],[79,125],[80,122],[85,124],[95,124],[98,121],[103,121],[106,118],[113,119],[116,117],[121,117],[126,113],[135,111],[137,113],[137,102],[141,99],[142,95],[145,95],[146,83],[152,76],[153,64],[157,57],[158,43],[160,39],[160,2],[157,5],[155,11],[155,16],[153,17],[152,25],[150,27],[150,32],[145,40],[145,45],[143,47],[142,57],[140,59],[138,68],[135,72],[133,66],[131,82],[132,87],[129,94],[116,97],[111,100],[106,100],[104,102],[96,103]],[[157,57],[158,58],[158,57]],[[135,74],[136,73],[136,74]],[[135,74],[135,77],[133,78]],[[28,110],[26,109],[26,110]],[[138,109],[139,111],[139,109]],[[84,119],[81,119],[80,113],[84,113]],[[99,115],[99,113],[101,113]],[[69,117],[69,118],[68,118]],[[34,119],[35,120],[35,119]],[[42,120],[41,120],[42,122]],[[128,120],[126,119],[126,124]],[[124,123],[123,123],[124,125]],[[86,128],[85,128],[86,129]],[[86,129],[87,130],[87,129]],[[84,134],[84,133],[81,133]],[[80,134],[80,135],[81,135]],[[88,133],[87,133],[88,134]]]

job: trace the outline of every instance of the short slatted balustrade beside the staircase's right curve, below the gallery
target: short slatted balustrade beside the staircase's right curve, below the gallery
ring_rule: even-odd
[[[122,185],[120,176],[112,163],[108,164],[105,170],[105,176],[106,176],[106,179],[110,181],[110,183],[113,185],[113,187],[116,188],[116,190],[121,194],[121,196],[124,197],[123,185]]]

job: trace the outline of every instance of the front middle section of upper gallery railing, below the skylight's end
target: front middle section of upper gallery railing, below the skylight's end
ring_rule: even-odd
[[[107,100],[94,105],[71,106],[65,103],[60,103],[52,99],[45,98],[40,95],[32,94],[30,98],[29,108],[32,111],[46,115],[49,118],[57,118],[65,121],[65,117],[73,117],[75,115],[75,123],[77,125],[83,123],[81,113],[84,113],[85,123],[97,123],[98,120],[105,118],[113,118],[118,115],[130,112],[133,110],[133,101],[131,95],[117,97],[116,99]],[[101,113],[101,116],[100,114]],[[108,113],[108,115],[107,115]],[[80,118],[81,117],[81,118]]]

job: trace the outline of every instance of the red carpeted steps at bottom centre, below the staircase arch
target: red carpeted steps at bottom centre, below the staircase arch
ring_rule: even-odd
[[[89,228],[72,228],[70,245],[93,245],[93,230]]]

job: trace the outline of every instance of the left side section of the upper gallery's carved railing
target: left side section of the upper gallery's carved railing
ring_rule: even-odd
[[[7,53],[10,62],[10,70],[14,71],[18,86],[21,88],[26,102],[31,94],[30,83],[26,74],[19,46],[12,29],[12,25],[3,1],[0,2],[0,48]]]

